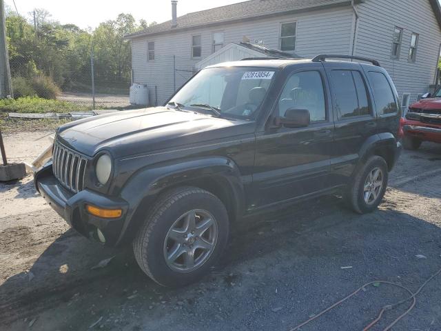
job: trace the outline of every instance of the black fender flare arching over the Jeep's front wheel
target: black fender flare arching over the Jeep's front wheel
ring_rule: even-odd
[[[130,208],[123,224],[118,244],[131,238],[150,206],[164,190],[179,185],[192,185],[215,181],[227,190],[234,217],[245,210],[245,192],[240,171],[227,157],[201,157],[179,162],[157,163],[132,174],[121,190],[121,198],[129,201]],[[193,184],[194,185],[194,184]]]

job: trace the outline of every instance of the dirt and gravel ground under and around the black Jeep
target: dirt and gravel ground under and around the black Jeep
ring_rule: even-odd
[[[13,160],[31,161],[50,132],[6,137]],[[114,257],[105,268],[91,270]],[[378,211],[360,216],[338,197],[301,203],[232,226],[216,268],[187,288],[161,288],[132,252],[103,248],[68,228],[32,177],[0,184],[1,330],[291,330],[375,280],[416,291],[441,268],[441,145],[404,152]],[[385,284],[301,330],[362,330],[408,296]],[[441,276],[393,330],[441,330]],[[384,313],[383,330],[410,302]]]

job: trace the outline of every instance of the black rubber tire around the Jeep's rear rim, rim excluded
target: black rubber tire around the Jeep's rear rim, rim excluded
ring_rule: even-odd
[[[373,201],[367,203],[365,201],[365,183],[369,174],[376,169],[380,169],[382,172],[382,187],[378,189],[378,195]],[[387,188],[387,181],[389,179],[389,173],[387,170],[387,163],[382,157],[373,156],[367,159],[367,161],[358,169],[355,177],[353,178],[350,187],[348,188],[345,199],[347,205],[358,214],[366,214],[373,212],[378,208],[381,203],[384,193]]]

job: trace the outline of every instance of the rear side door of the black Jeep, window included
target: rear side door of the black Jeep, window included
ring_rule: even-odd
[[[369,84],[360,63],[324,62],[334,111],[331,184],[349,180],[363,143],[378,130]]]

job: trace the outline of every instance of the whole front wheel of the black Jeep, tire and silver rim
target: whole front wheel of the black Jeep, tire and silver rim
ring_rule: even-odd
[[[223,203],[199,188],[167,192],[134,239],[136,261],[156,283],[183,286],[209,271],[225,249],[229,221]]]

